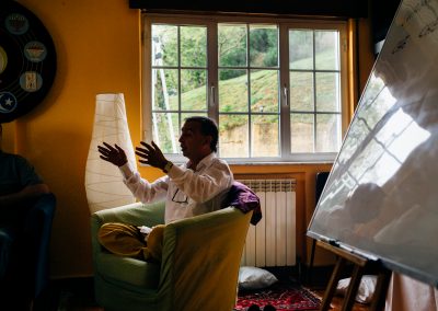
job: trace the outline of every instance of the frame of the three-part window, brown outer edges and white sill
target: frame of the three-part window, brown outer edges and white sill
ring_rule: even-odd
[[[332,163],[338,152],[290,152],[290,104],[289,104],[289,36],[290,28],[301,30],[337,30],[339,32],[339,85],[341,85],[341,136],[345,136],[349,124],[348,106],[348,34],[347,21],[333,19],[292,19],[278,16],[251,16],[251,15],[188,15],[188,14],[163,14],[163,13],[142,13],[142,107],[141,125],[142,139],[150,141],[152,133],[152,54],[151,54],[151,25],[163,24],[187,24],[207,26],[207,113],[210,117],[219,120],[219,79],[218,79],[218,57],[217,57],[217,30],[219,23],[261,23],[278,25],[278,54],[279,54],[279,156],[278,157],[257,157],[257,158],[224,158],[231,164],[251,164],[251,163]],[[208,31],[211,30],[211,31]],[[209,51],[214,51],[211,55]],[[214,56],[214,57],[211,57]],[[318,71],[313,71],[318,72]],[[211,92],[210,88],[215,91]],[[283,87],[287,90],[287,96],[284,95]],[[212,94],[212,95],[211,95]],[[247,113],[250,114],[250,112]],[[313,114],[318,114],[316,111]],[[250,141],[251,143],[251,141]],[[185,158],[180,153],[165,153],[165,156],[176,163],[185,162]],[[219,154],[220,157],[220,154]]]

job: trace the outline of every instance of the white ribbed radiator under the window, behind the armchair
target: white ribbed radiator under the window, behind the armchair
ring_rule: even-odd
[[[260,197],[262,220],[250,226],[242,266],[296,265],[296,180],[239,180]]]

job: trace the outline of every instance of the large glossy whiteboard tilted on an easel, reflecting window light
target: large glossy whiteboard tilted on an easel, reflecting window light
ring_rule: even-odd
[[[438,0],[403,0],[308,235],[438,284]]]

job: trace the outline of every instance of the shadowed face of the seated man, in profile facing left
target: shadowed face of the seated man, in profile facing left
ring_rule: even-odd
[[[200,124],[197,122],[186,122],[181,129],[180,137],[181,150],[183,156],[188,159],[198,159],[204,154],[205,148],[209,148],[208,136],[200,133]]]

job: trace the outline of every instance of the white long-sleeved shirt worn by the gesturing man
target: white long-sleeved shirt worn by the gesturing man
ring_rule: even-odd
[[[189,162],[173,165],[168,175],[149,183],[134,171],[129,163],[120,166],[124,182],[134,196],[142,203],[165,199],[164,221],[197,216],[220,209],[220,204],[231,187],[233,174],[227,162],[215,152],[205,157],[196,166]]]

